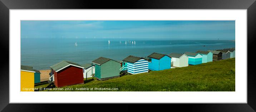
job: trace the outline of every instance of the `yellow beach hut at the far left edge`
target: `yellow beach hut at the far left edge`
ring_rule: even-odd
[[[34,91],[35,71],[30,66],[20,66],[20,91]]]

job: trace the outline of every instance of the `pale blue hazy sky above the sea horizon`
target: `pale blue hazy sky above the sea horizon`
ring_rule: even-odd
[[[235,21],[21,21],[21,38],[235,40]]]

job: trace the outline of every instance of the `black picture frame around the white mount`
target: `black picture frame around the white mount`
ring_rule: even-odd
[[[0,110],[1,111],[53,111],[67,108],[53,108],[57,104],[14,104],[9,103],[9,9],[247,9],[247,104],[172,104],[135,106],[134,104],[115,105],[124,110],[139,107],[158,107],[159,110],[176,108],[180,111],[251,111],[256,110],[256,75],[253,70],[255,59],[248,52],[255,51],[256,37],[256,2],[255,0],[129,0],[129,1],[98,1],[98,0],[0,0],[0,38],[1,38],[1,75],[0,75]],[[239,37],[238,37],[239,38]],[[253,53],[250,53],[253,54]],[[19,63],[19,62],[17,62]],[[240,74],[238,74],[240,75]],[[244,75],[244,74],[241,74]],[[61,107],[68,107],[62,104]],[[82,105],[82,104],[80,104]],[[113,104],[112,104],[113,105]],[[78,105],[71,104],[70,107]],[[84,106],[84,105],[82,105]],[[88,108],[95,107],[88,105]],[[80,106],[78,106],[80,107]],[[103,105],[102,108],[107,108]],[[185,107],[185,108],[184,108]],[[84,110],[84,108],[76,108]],[[152,108],[148,108],[152,110]],[[97,108],[96,110],[99,110]]]

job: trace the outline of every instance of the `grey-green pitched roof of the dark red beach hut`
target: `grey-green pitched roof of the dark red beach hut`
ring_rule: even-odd
[[[77,63],[74,63],[74,62],[69,62],[69,61],[61,61],[59,63],[56,63],[54,64],[53,66],[51,66],[51,68],[58,72],[60,71],[61,69],[69,66],[69,65],[73,65],[73,66],[76,66],[76,67],[80,67],[80,68],[83,68],[81,65],[77,64]]]

